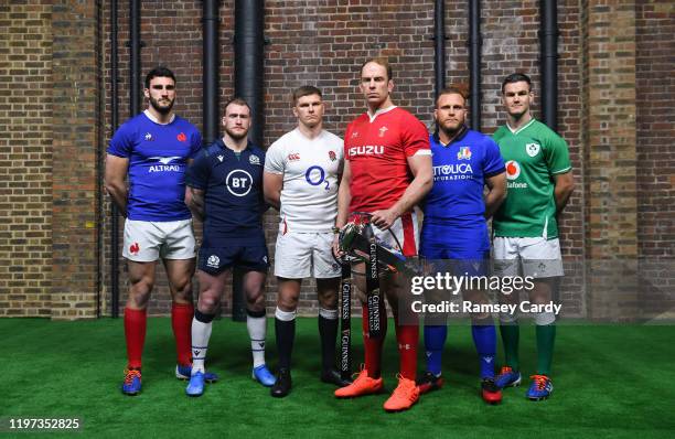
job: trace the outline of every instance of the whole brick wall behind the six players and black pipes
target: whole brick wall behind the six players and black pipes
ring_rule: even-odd
[[[60,311],[63,314],[90,315],[99,283],[101,310],[109,313],[109,201],[104,197],[97,208],[101,175],[96,169],[113,132],[109,2],[73,2],[68,8],[52,7],[51,2],[44,7],[17,3],[0,7],[0,21],[7,23],[0,31],[0,127],[4,128],[0,141],[9,147],[0,151],[0,160],[7,163],[0,167],[4,176],[0,191],[9,195],[6,203],[12,206],[9,213],[0,210],[8,218],[0,224],[0,260],[6,261],[0,265],[0,288],[11,292],[0,295],[0,314],[51,315],[45,295],[50,291],[55,307],[66,307],[67,311]],[[357,68],[373,55],[387,55],[394,64],[395,103],[431,127],[433,1],[345,3],[265,2],[265,34],[270,42],[265,61],[266,144],[294,127],[289,93],[303,84],[322,88],[329,104],[326,128],[342,133],[364,110],[356,89]],[[534,113],[538,115],[539,1],[481,3],[482,126],[483,131],[492,132],[504,122],[500,82],[514,71],[533,77]],[[665,0],[610,3],[558,1],[559,132],[569,143],[578,188],[560,227],[564,255],[574,268],[561,295],[572,313],[586,310],[582,292],[587,286],[592,293],[608,279],[601,269],[579,269],[586,259],[673,256],[675,234],[668,203],[675,182],[668,149],[673,137],[673,84],[668,81],[673,6]],[[128,13],[120,3],[120,122],[129,116]],[[141,15],[142,72],[157,64],[174,69],[179,78],[176,113],[201,128],[202,2],[144,1]],[[447,0],[446,15],[447,82],[468,82],[467,2]],[[233,93],[234,0],[221,2],[221,19],[219,86],[224,101]],[[17,73],[30,69],[44,73]],[[52,89],[57,106],[52,104]],[[29,130],[29,126],[40,129]],[[79,163],[84,165],[75,167],[67,160],[74,156],[82,156]],[[40,171],[32,171],[32,167]],[[26,212],[35,223],[24,220]],[[277,213],[268,213],[265,224],[272,250]],[[98,232],[103,248],[97,249]],[[98,250],[101,257],[97,265],[92,253]],[[120,263],[124,307],[124,259]],[[629,285],[635,287],[636,277],[631,279]],[[270,308],[275,288],[270,279]],[[313,289],[307,282],[301,297],[310,314],[315,312]],[[167,282],[160,274],[150,312],[163,314],[169,303]],[[83,308],[77,311],[77,307]],[[229,307],[227,299],[225,312]]]

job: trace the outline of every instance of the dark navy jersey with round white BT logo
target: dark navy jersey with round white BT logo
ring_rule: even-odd
[[[204,148],[188,170],[188,185],[204,191],[203,247],[265,244],[265,152],[250,142],[237,156],[222,139]]]

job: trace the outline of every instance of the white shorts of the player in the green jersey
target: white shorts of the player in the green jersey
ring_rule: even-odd
[[[562,276],[560,240],[538,238],[515,238],[497,236],[492,244],[494,251],[494,274],[496,276],[518,276],[550,278]]]

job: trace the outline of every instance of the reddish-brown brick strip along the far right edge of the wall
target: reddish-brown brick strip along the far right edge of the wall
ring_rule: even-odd
[[[636,23],[638,249],[642,315],[675,317],[675,3],[640,2]]]

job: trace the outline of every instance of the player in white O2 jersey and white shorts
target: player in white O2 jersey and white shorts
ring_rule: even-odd
[[[319,299],[321,381],[349,384],[335,370],[341,267],[331,253],[343,142],[323,129],[321,90],[299,87],[292,94],[292,103],[298,126],[269,147],[265,163],[265,200],[280,214],[275,250],[279,370],[271,388],[274,397],[285,397],[291,390],[298,299],[302,279],[310,276],[317,280]]]

